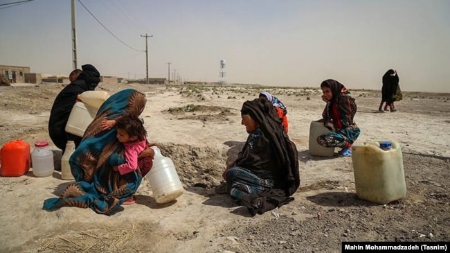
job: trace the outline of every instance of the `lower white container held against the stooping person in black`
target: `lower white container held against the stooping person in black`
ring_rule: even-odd
[[[66,132],[83,137],[84,131],[96,117],[98,109],[85,103],[77,102],[73,105],[69,120],[66,124]]]

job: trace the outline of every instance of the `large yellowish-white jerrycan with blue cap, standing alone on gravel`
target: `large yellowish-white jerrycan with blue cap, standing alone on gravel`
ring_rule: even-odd
[[[366,141],[352,146],[354,184],[363,200],[387,204],[405,198],[402,148],[396,141]]]

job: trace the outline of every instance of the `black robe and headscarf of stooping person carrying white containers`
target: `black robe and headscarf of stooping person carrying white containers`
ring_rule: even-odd
[[[50,119],[48,119],[48,134],[55,146],[63,151],[66,149],[68,136],[75,141],[75,146],[78,146],[81,141],[81,137],[75,137],[66,133],[65,130],[78,95],[84,91],[93,91],[100,82],[100,72],[98,72],[96,67],[93,67],[91,64],[85,64],[81,68],[82,72],[77,80],[64,87],[60,94],[56,96],[50,111]]]

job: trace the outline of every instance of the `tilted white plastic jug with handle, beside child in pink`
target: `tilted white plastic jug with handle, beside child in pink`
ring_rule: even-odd
[[[184,189],[172,159],[161,155],[156,146],[150,148],[154,150],[153,166],[145,178],[150,183],[156,203],[164,204],[178,198]]]

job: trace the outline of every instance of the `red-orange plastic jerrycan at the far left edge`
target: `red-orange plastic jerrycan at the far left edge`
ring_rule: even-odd
[[[2,177],[20,177],[30,170],[30,144],[21,139],[5,143],[0,158]]]

